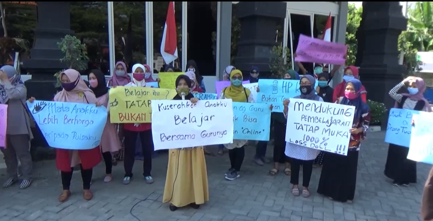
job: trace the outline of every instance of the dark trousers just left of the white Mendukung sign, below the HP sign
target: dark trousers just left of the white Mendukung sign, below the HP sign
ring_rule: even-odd
[[[275,120],[274,123],[274,163],[284,164],[288,157],[284,154],[286,150],[286,125]]]

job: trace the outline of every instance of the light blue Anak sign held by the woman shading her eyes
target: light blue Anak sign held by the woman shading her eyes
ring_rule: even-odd
[[[385,142],[409,147],[412,116],[419,111],[391,108],[386,127]]]

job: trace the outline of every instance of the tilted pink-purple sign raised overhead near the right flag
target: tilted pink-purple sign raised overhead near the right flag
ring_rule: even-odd
[[[344,65],[346,52],[347,45],[300,35],[295,61]]]

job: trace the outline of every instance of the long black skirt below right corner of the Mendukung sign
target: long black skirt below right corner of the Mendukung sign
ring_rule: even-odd
[[[339,202],[353,200],[358,154],[359,151],[349,151],[347,156],[325,152],[317,193]]]

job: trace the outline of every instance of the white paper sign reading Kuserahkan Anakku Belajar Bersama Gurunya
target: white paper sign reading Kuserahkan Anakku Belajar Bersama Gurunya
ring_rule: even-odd
[[[152,119],[155,150],[233,142],[231,99],[152,100]]]

